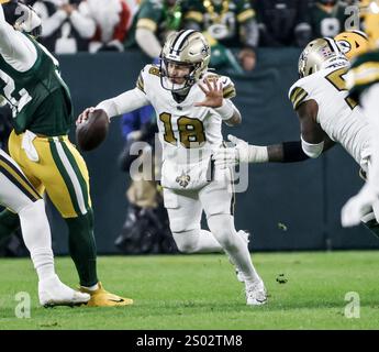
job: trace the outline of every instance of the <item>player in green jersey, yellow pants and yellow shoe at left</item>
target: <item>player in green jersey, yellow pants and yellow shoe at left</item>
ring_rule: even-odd
[[[132,300],[105,292],[98,280],[93,216],[85,161],[69,142],[73,123],[69,89],[58,62],[30,34],[41,21],[16,0],[0,4],[0,95],[13,112],[9,139],[12,158],[38,194],[47,191],[69,230],[69,251],[88,306],[123,306]],[[27,34],[30,33],[30,34]],[[0,237],[14,231],[19,218],[0,215]]]

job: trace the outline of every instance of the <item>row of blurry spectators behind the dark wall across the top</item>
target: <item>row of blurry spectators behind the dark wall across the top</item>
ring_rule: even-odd
[[[43,19],[42,43],[56,54],[129,51],[159,56],[167,34],[203,31],[212,67],[249,72],[258,46],[304,46],[344,28],[341,0],[27,0]]]

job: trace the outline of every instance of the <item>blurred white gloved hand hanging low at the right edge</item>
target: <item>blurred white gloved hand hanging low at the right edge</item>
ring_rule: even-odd
[[[344,228],[359,224],[361,218],[370,210],[378,196],[370,189],[368,185],[352,197],[341,211],[341,223]]]

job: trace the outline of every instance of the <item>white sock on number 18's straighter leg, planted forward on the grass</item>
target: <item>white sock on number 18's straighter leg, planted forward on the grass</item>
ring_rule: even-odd
[[[260,280],[256,272],[250,253],[241,235],[234,228],[234,218],[230,215],[212,216],[208,219],[212,233],[230,255],[247,283]]]

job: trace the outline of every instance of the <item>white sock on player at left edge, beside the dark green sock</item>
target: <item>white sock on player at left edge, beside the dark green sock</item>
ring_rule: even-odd
[[[51,229],[44,201],[37,200],[19,212],[22,237],[31,253],[38,279],[55,275]]]

